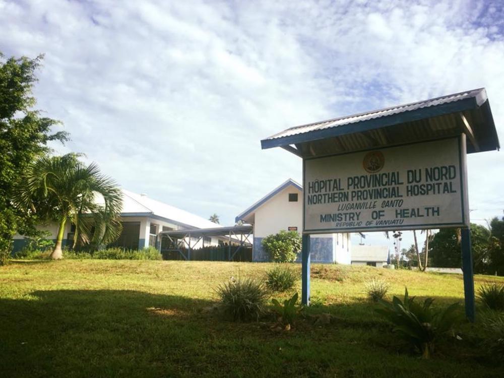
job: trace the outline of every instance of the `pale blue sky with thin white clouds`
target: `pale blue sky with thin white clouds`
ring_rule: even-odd
[[[0,0],[0,51],[45,55],[37,108],[72,138],[56,153],[225,225],[301,182],[300,158],[260,145],[294,125],[485,87],[504,141],[500,0]],[[476,223],[502,215],[503,163],[468,156]]]

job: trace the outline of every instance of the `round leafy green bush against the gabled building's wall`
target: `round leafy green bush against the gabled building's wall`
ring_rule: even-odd
[[[301,235],[297,231],[281,230],[277,234],[266,236],[262,245],[274,262],[292,263],[301,250]]]

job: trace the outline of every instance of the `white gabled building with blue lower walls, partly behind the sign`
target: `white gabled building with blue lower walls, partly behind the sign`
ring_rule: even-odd
[[[240,213],[235,220],[254,226],[253,261],[269,261],[262,246],[262,240],[266,236],[280,230],[302,232],[303,188],[289,178]],[[311,261],[350,264],[350,244],[349,233],[311,235]]]

